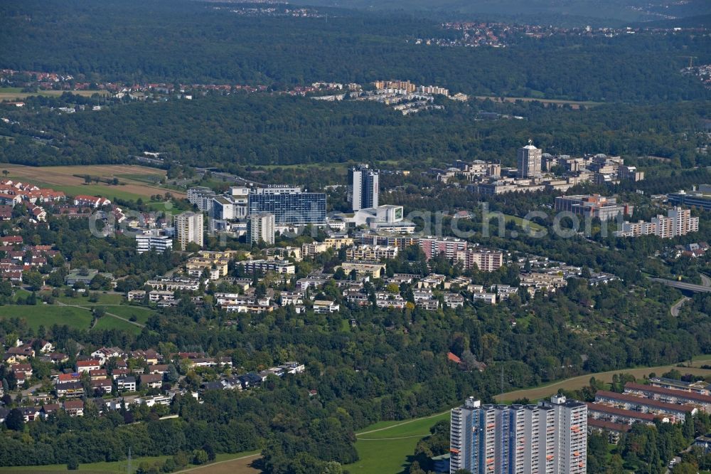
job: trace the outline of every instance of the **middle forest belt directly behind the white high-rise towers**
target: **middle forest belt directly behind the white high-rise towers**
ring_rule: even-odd
[[[445,110],[404,117],[373,102],[321,102],[288,96],[208,95],[134,102],[101,112],[58,114],[28,100],[4,111],[0,162],[126,162],[144,151],[186,164],[237,165],[389,162],[402,169],[490,159],[515,166],[515,149],[533,138],[552,154],[606,153],[673,159],[676,167],[711,164],[695,135],[711,102],[601,105],[587,110],[540,102],[445,102]],[[526,120],[476,120],[479,110]],[[43,137],[38,142],[33,137]],[[46,140],[50,139],[50,144]],[[658,164],[658,163],[657,163]]]

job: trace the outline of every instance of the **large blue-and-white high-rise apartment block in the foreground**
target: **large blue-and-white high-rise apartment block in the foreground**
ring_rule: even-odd
[[[582,474],[587,470],[587,405],[553,396],[538,405],[482,405],[451,411],[450,473]]]

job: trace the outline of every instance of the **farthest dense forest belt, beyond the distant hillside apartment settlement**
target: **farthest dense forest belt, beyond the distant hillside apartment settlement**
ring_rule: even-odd
[[[231,5],[231,4],[228,4]],[[456,92],[575,100],[708,98],[683,77],[685,59],[711,61],[688,33],[522,39],[508,48],[442,48],[407,39],[449,36],[412,14],[328,11],[324,18],[244,17],[197,1],[6,1],[0,66],[86,80],[292,85],[382,78]],[[156,20],[159,19],[159,20]],[[52,45],[48,48],[48,45]]]

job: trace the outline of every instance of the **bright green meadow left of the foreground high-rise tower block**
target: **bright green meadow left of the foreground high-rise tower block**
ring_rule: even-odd
[[[417,442],[429,436],[434,423],[449,419],[449,411],[412,421],[381,421],[356,434],[360,460],[346,465],[352,474],[401,473],[407,467],[407,457],[415,453]],[[378,430],[378,431],[373,431]]]

